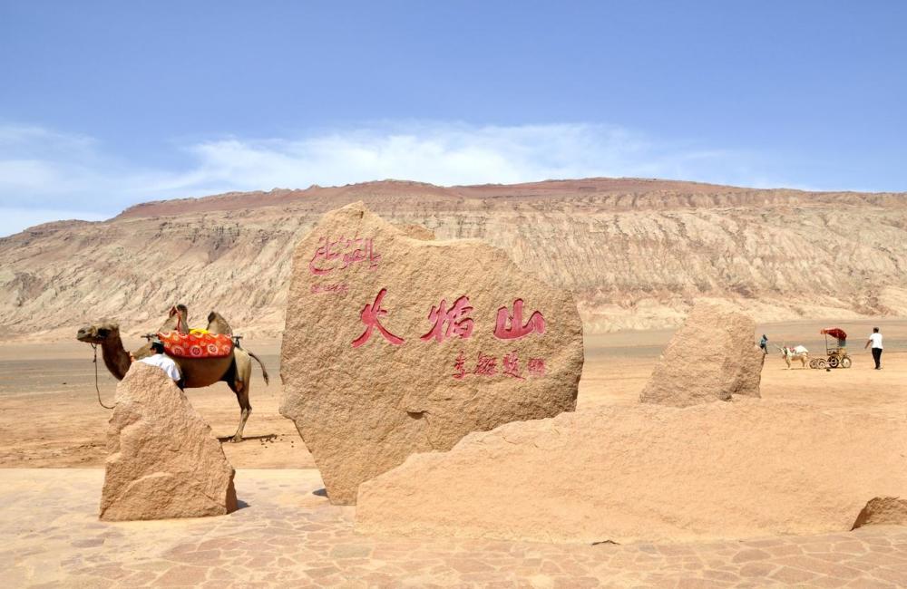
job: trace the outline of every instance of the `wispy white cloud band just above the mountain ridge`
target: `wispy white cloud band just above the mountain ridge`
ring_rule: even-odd
[[[102,142],[0,125],[0,208],[15,223],[49,215],[113,216],[137,202],[230,190],[305,188],[375,179],[442,186],[639,176],[778,186],[758,154],[658,140],[613,125],[376,123],[295,138],[226,137],[178,147],[183,169],[124,161]],[[24,211],[35,212],[29,217]],[[18,227],[7,222],[0,235]]]

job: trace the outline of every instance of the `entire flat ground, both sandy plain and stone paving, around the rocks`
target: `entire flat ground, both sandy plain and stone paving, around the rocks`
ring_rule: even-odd
[[[770,343],[814,355],[827,322],[759,324]],[[864,335],[881,327],[883,370]],[[764,399],[907,419],[907,321],[839,322],[852,333],[853,367],[787,370],[766,358]],[[588,334],[577,410],[638,402],[672,330]],[[754,340],[757,335],[754,334]],[[141,341],[126,341],[138,347]],[[228,517],[115,525],[97,521],[109,415],[96,400],[83,343],[0,346],[0,565],[9,586],[887,586],[907,584],[907,529],[741,538],[697,544],[547,545],[519,541],[368,536],[355,507],[331,506],[293,422],[278,413],[279,341],[249,340],[258,368],[246,439],[223,448],[238,469],[240,509]],[[112,377],[100,367],[101,398]],[[233,394],[219,383],[189,391],[214,433],[232,435]],[[843,473],[843,476],[846,476]]]

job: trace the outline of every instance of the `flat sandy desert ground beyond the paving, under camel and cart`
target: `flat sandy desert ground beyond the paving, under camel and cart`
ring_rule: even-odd
[[[762,375],[765,398],[804,401],[825,409],[868,410],[907,419],[907,320],[878,324],[885,335],[883,370],[863,343],[868,323],[840,323],[851,333],[853,368],[831,372],[786,370],[780,354],[766,359]],[[814,355],[824,351],[820,323],[760,325],[772,344],[803,343]],[[649,379],[669,331],[624,332],[586,338],[586,362],[580,381],[579,410],[600,404],[633,403]],[[138,348],[141,342],[126,342]],[[246,441],[224,444],[236,468],[314,468],[315,463],[292,421],[280,416],[279,343],[246,344],[268,367],[265,386],[253,369],[253,412]],[[773,347],[774,350],[774,347]],[[94,391],[93,352],[84,343],[25,343],[0,345],[0,467],[101,467],[105,458],[105,429],[109,415]],[[99,361],[100,362],[100,361]],[[112,403],[116,381],[100,364],[102,399]],[[235,397],[226,385],[190,390],[190,401],[208,420],[215,434],[228,437],[239,420]]]

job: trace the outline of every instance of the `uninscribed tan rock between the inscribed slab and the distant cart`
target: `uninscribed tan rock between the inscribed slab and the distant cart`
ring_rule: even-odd
[[[687,407],[731,395],[759,397],[766,356],[755,332],[745,314],[697,304],[661,353],[639,401]]]

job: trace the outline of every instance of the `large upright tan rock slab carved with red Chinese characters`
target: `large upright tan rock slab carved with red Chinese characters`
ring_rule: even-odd
[[[335,504],[414,452],[576,407],[572,295],[478,240],[412,236],[354,203],[293,256],[280,412]]]

